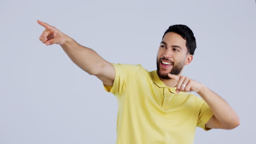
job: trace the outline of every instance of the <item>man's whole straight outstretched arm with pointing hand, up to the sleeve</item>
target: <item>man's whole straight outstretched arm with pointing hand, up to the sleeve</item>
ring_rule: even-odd
[[[95,75],[105,85],[113,86],[115,78],[114,66],[103,59],[94,50],[82,46],[59,29],[48,23],[37,20],[39,25],[45,27],[39,40],[46,45],[59,44],[68,57],[90,75]]]

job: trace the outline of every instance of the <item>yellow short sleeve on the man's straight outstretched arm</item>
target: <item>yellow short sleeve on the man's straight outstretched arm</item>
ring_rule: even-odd
[[[133,79],[136,76],[138,71],[141,69],[141,65],[132,65],[132,64],[114,64],[115,68],[115,79],[113,86],[106,86],[103,83],[104,89],[107,92],[113,93],[117,98],[123,94],[126,89],[127,82]]]

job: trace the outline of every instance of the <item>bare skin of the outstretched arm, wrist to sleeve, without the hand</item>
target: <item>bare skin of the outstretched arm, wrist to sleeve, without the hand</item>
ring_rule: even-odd
[[[114,66],[98,55],[98,53],[78,44],[69,37],[65,40],[65,43],[61,44],[61,47],[79,68],[90,75],[97,76],[105,85],[113,86],[115,78]]]

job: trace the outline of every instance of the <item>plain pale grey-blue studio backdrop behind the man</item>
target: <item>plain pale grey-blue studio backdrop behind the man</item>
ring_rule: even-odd
[[[39,41],[37,19],[109,62],[156,69],[170,25],[196,38],[183,75],[235,109],[233,130],[196,129],[195,143],[254,143],[256,4],[241,1],[7,1],[0,6],[0,143],[115,143],[117,99],[59,45]]]

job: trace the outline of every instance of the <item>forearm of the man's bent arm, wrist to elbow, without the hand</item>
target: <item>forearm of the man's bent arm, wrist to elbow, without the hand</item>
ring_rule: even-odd
[[[201,91],[197,92],[210,106],[214,116],[226,127],[236,127],[240,122],[236,112],[218,94],[202,85]]]

